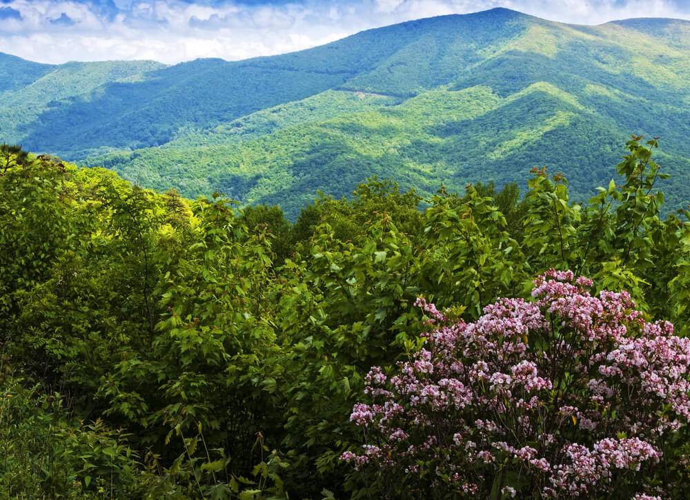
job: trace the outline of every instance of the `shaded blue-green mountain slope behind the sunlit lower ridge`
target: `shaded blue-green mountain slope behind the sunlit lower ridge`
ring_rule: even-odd
[[[151,68],[137,79],[102,82],[77,99],[61,99],[63,96],[58,94],[53,106],[48,106],[48,101],[32,101],[32,110],[39,110],[31,115],[34,126],[19,129],[26,132],[24,135],[10,134],[10,140],[21,141],[34,150],[83,159],[97,148],[159,146],[177,137],[179,128],[215,126],[328,89],[411,97],[422,88],[452,79],[454,70],[439,72],[446,42],[455,40],[455,52],[456,46],[462,46],[471,54],[473,47],[484,48],[495,38],[503,38],[505,25],[519,15],[498,10],[491,15],[473,14],[469,20],[455,16],[411,21],[291,54],[236,62],[199,59]],[[470,43],[464,25],[477,22],[498,34]],[[420,66],[432,41],[444,49],[437,50],[438,61]],[[406,63],[406,59],[411,62]],[[57,66],[55,72],[63,66]],[[21,106],[16,101],[22,99],[23,92],[19,92],[12,103],[14,110],[19,111]],[[0,106],[0,110],[6,107]],[[75,116],[80,118],[77,123]],[[75,134],[79,136],[78,147],[70,137]]]

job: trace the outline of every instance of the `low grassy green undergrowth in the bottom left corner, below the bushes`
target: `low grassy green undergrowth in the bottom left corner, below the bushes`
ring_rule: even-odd
[[[0,498],[138,497],[150,474],[128,434],[70,417],[60,394],[28,386],[6,365],[0,384]],[[9,372],[9,373],[8,373]]]

